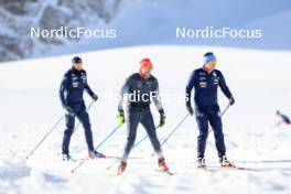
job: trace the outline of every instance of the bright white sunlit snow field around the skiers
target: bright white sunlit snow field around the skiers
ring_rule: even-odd
[[[184,88],[190,73],[202,65],[202,55],[213,51],[233,91],[236,104],[223,116],[228,158],[248,170],[222,170],[216,159],[213,133],[207,142],[208,171],[196,169],[197,127],[188,117],[163,151],[174,175],[157,171],[157,159],[147,140],[132,150],[125,174],[117,176],[115,159],[64,163],[57,155],[64,120],[34,154],[29,151],[64,114],[58,99],[62,77],[73,55],[28,60],[0,65],[0,193],[291,193],[291,127],[276,127],[276,110],[291,115],[290,52],[203,46],[140,46],[79,53],[90,87],[99,95],[90,121],[97,146],[117,126],[117,99],[123,80],[139,68],[142,57],[151,57],[153,74],[162,95],[180,95],[166,100],[166,125],[158,130],[163,140],[186,115]],[[90,103],[85,95],[86,104]],[[219,91],[222,110],[227,99]],[[158,123],[159,115],[152,107]],[[137,141],[146,134],[139,128]],[[100,149],[121,155],[126,128],[121,127]],[[86,157],[84,130],[73,134],[71,153]]]

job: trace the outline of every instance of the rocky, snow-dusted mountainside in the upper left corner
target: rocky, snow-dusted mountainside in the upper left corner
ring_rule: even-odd
[[[50,45],[64,43],[57,39],[31,39],[30,29],[58,29],[108,23],[121,0],[0,0],[0,61],[26,58]]]

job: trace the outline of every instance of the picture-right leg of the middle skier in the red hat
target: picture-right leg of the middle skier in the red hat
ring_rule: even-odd
[[[154,152],[157,153],[158,158],[162,158],[162,149],[161,149],[161,143],[157,137],[157,131],[152,118],[151,111],[146,114],[141,120],[142,126],[146,128],[148,136],[150,138],[151,144],[153,147]]]

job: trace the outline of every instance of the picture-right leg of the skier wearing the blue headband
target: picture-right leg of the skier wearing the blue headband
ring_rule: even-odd
[[[218,158],[222,159],[226,154],[226,148],[223,133],[223,122],[219,110],[213,111],[209,115],[209,122],[213,128]]]

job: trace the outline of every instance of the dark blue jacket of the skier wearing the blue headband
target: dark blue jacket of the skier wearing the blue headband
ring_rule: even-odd
[[[222,72],[214,69],[208,74],[204,68],[193,71],[186,86],[186,106],[191,106],[191,91],[194,88],[194,101],[197,107],[218,107],[218,86],[222,88],[226,97],[233,97]]]

